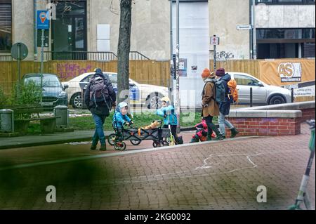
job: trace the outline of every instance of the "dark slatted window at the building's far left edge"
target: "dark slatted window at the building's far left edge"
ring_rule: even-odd
[[[0,0],[0,53],[10,52],[12,47],[12,3]]]

